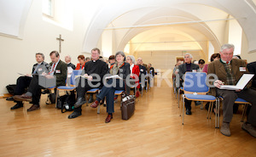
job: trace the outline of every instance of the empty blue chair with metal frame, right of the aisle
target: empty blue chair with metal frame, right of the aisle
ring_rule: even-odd
[[[183,121],[184,124],[184,100],[185,98],[193,101],[206,101],[213,104],[217,102],[217,98],[207,95],[209,87],[207,87],[207,73],[205,72],[186,72],[183,83]],[[215,118],[215,126],[217,126],[217,117]]]

